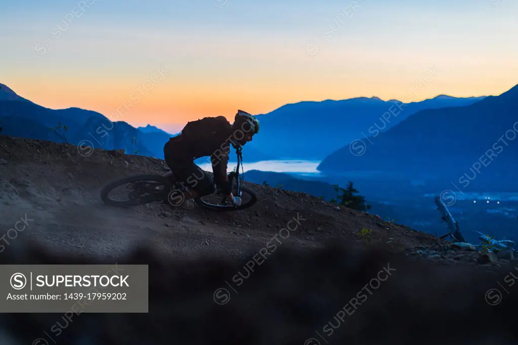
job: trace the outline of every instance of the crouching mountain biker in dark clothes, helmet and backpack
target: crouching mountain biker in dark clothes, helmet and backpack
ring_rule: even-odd
[[[227,178],[230,145],[234,148],[242,146],[252,141],[258,132],[257,119],[242,110],[237,111],[232,125],[224,116],[189,122],[178,136],[164,145],[164,158],[171,170],[164,177],[187,187],[186,191],[178,191],[182,193],[182,203],[211,194],[218,186],[233,205],[239,206],[241,198],[234,197]],[[195,159],[205,156],[210,157],[214,179],[194,163]],[[191,205],[188,207],[194,206],[192,201]]]

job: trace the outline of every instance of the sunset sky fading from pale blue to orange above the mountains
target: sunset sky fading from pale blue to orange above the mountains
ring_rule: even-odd
[[[172,132],[298,101],[499,95],[518,84],[516,13],[515,0],[7,1],[0,83]]]

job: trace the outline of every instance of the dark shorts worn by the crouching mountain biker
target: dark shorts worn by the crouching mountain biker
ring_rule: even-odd
[[[164,159],[176,181],[194,190],[199,197],[212,194],[216,190],[213,178],[193,160],[178,159],[171,155],[174,147],[170,144],[167,142],[164,145]]]

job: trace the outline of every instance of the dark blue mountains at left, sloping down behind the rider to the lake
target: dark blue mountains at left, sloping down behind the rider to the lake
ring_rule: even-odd
[[[59,124],[67,130],[56,128]],[[0,127],[2,135],[20,138],[82,144],[94,148],[124,149],[137,154],[163,159],[164,144],[177,134],[152,125],[135,128],[124,121],[111,122],[103,114],[79,108],[49,109],[41,107],[0,84]],[[254,148],[243,148],[247,161],[272,159]],[[202,161],[199,159],[198,161]],[[236,161],[231,155],[230,160]],[[203,161],[205,162],[205,161]]]

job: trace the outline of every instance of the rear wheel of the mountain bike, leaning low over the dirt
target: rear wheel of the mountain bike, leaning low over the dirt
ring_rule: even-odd
[[[110,193],[122,187],[126,200],[114,199]],[[100,198],[107,205],[128,207],[150,202],[167,201],[170,184],[167,178],[160,175],[128,176],[106,185],[100,191]]]

